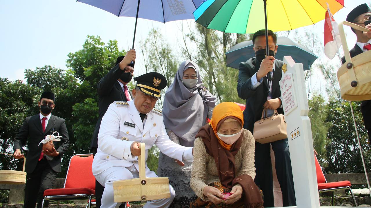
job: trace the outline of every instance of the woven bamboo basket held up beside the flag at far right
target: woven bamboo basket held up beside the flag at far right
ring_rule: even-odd
[[[350,101],[370,100],[371,50],[354,56],[351,59],[343,24],[364,32],[369,31],[364,27],[346,21],[339,24],[340,38],[345,56],[345,63],[339,68],[337,73],[341,97]]]

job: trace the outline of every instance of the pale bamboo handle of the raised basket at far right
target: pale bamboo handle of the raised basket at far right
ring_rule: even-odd
[[[359,26],[357,24],[354,24],[354,23],[351,23],[351,22],[347,22],[347,21],[341,22],[339,24],[339,26],[338,26],[339,33],[340,33],[341,44],[343,45],[343,50],[344,50],[345,63],[347,64],[347,69],[349,69],[348,70],[348,72],[349,72],[348,75],[349,75],[350,80],[352,80],[351,86],[352,87],[356,87],[357,86],[357,78],[355,77],[354,68],[353,68],[351,57],[350,57],[347,40],[345,39],[345,33],[344,33],[343,24],[345,24],[345,25],[347,25],[349,27],[352,27],[352,28],[354,28],[356,30],[361,30],[363,32],[368,32],[370,30],[368,30],[368,29],[366,29],[364,27],[361,27],[361,26]]]

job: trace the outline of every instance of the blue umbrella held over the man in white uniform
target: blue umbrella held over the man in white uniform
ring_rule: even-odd
[[[118,17],[135,17],[134,38],[138,18],[158,22],[193,19],[193,11],[203,0],[77,0],[108,11]]]

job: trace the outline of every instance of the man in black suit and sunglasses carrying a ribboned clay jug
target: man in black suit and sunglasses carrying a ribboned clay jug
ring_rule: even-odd
[[[69,146],[65,119],[52,115],[54,103],[54,94],[43,92],[39,101],[40,113],[24,119],[23,126],[14,140],[14,158],[20,159],[23,157],[21,151],[28,138],[24,208],[35,208],[36,201],[37,208],[41,207],[44,191],[52,188],[58,172],[61,171],[60,159]],[[39,143],[53,131],[59,132],[62,138],[60,141],[53,141],[55,147],[52,152],[42,151],[42,145]],[[49,202],[45,201],[45,207],[48,205]]]

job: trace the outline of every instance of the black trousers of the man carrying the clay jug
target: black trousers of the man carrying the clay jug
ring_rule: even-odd
[[[27,173],[26,187],[24,188],[23,208],[41,208],[44,191],[53,188],[57,172],[53,171],[46,158],[40,160],[33,172]],[[49,201],[44,202],[44,207],[49,206]]]

